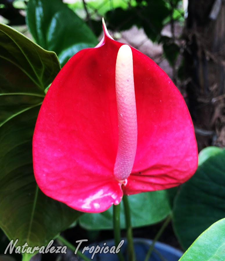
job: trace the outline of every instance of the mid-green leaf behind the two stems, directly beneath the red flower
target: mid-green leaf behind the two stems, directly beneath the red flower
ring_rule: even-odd
[[[128,200],[132,227],[157,223],[171,211],[166,190],[130,195]],[[85,229],[113,229],[113,208],[102,213],[85,213],[79,222]],[[120,211],[120,226],[122,229],[126,227],[123,204]]]

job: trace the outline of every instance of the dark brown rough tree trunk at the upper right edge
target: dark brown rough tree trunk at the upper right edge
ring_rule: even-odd
[[[218,10],[218,12],[217,12]],[[199,151],[225,146],[225,3],[189,0],[185,68],[188,106]]]

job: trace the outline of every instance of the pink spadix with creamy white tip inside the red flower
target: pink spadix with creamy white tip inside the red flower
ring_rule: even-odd
[[[116,58],[116,104],[119,138],[114,176],[126,184],[134,165],[138,134],[133,56],[128,45],[120,47]]]

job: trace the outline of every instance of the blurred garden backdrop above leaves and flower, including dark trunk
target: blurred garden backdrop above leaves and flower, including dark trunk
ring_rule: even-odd
[[[225,146],[222,0],[64,0],[100,39],[101,18],[117,41],[152,58],[186,100],[199,151]],[[0,21],[31,38],[28,1],[0,0]]]

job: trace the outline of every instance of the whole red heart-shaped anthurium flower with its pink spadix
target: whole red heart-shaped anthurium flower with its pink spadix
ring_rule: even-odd
[[[33,136],[37,184],[49,197],[102,212],[130,195],[177,186],[197,168],[181,93],[154,61],[104,37],[50,86]]]

